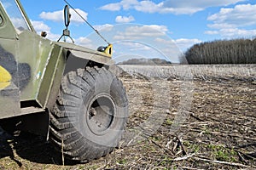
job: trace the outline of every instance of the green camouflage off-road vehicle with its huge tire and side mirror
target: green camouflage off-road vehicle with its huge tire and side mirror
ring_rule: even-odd
[[[64,15],[68,26],[67,6]],[[43,134],[71,160],[111,152],[124,133],[128,101],[108,70],[111,44],[99,49],[39,36],[19,0],[0,0],[0,126]]]

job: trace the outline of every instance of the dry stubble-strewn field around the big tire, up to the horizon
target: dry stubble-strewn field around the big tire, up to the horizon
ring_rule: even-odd
[[[130,119],[118,149],[62,166],[40,137],[0,130],[0,170],[256,168],[256,65],[120,66]]]

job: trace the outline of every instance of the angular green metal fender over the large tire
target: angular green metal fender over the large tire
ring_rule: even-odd
[[[110,66],[114,64],[108,54],[84,48],[73,43],[54,42],[55,48],[49,57],[44,80],[38,92],[38,103],[43,108],[52,109],[61,86],[61,77],[69,71],[77,71],[86,66]]]

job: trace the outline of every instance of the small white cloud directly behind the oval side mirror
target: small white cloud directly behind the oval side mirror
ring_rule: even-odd
[[[79,8],[76,8],[76,11],[79,12],[79,14],[81,14],[85,20],[87,20],[87,16],[88,16],[87,13],[85,13],[83,10]],[[70,9],[70,14],[71,14],[71,22],[75,22],[75,23],[84,22],[84,20],[81,19],[81,17],[73,9]],[[44,20],[53,20],[56,22],[60,22],[64,20],[63,10],[59,10],[55,12],[42,12],[39,16]]]

